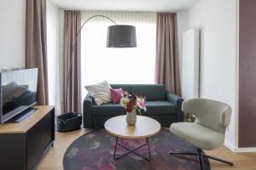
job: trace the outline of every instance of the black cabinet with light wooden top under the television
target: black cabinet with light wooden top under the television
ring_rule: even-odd
[[[53,106],[38,110],[19,123],[0,125],[0,169],[34,169],[55,139]]]

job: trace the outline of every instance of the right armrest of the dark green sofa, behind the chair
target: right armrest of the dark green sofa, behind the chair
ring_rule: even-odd
[[[166,92],[166,99],[177,106],[177,122],[184,122],[184,113],[182,111],[183,99],[168,91]]]

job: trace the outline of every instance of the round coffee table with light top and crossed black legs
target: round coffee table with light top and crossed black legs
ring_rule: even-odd
[[[108,119],[108,121],[105,122],[105,125],[104,125],[104,127],[108,133],[112,134],[113,136],[116,136],[114,152],[113,152],[113,159],[118,160],[119,158],[121,158],[123,156],[127,156],[130,153],[134,153],[137,156],[141,156],[141,157],[143,157],[143,159],[150,161],[151,155],[150,155],[148,138],[151,136],[154,136],[155,134],[160,132],[160,128],[161,128],[160,123],[148,116],[137,116],[136,125],[129,126],[126,123],[125,118],[126,118],[126,116],[114,116],[113,118]],[[135,149],[131,149],[131,148],[128,148],[127,146],[125,146],[124,144],[120,144],[118,142],[119,138],[146,139],[146,143],[141,146],[138,146]],[[115,154],[117,145],[125,148],[125,150],[128,150],[128,152],[117,157]],[[148,157],[145,157],[137,152],[138,149],[140,149],[146,145],[148,146]]]

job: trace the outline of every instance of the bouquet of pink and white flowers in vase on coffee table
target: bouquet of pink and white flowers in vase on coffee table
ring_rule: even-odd
[[[120,99],[120,104],[126,111],[126,122],[130,126],[134,126],[137,122],[137,113],[141,115],[141,110],[146,111],[146,98],[124,92]]]

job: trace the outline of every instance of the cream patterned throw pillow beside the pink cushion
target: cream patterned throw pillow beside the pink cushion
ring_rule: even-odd
[[[110,88],[107,81],[97,83],[95,85],[84,86],[88,93],[93,97],[96,105],[106,104],[112,101]]]

